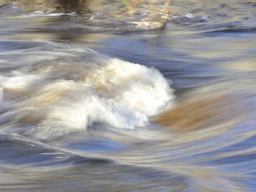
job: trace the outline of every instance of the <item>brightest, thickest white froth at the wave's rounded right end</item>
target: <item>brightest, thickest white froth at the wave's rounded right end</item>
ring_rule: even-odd
[[[114,76],[110,82],[115,99],[131,110],[152,116],[170,100],[169,83],[156,69],[111,59],[103,71]]]

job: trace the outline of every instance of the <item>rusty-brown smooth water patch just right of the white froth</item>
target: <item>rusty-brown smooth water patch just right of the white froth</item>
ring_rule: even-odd
[[[249,111],[250,107],[241,108],[239,98],[213,95],[178,103],[159,114],[154,123],[175,132],[192,131],[230,122]]]

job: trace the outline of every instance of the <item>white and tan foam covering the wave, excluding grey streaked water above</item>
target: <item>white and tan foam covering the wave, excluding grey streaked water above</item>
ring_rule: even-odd
[[[83,130],[93,122],[142,127],[173,98],[158,70],[116,58],[35,66],[31,73],[4,77],[2,87],[16,102],[10,110],[17,111],[17,123],[38,124],[24,133],[38,137]]]

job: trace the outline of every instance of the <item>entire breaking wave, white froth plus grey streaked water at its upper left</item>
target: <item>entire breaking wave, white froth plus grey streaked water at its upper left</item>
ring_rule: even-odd
[[[1,53],[5,131],[49,139],[94,122],[134,129],[174,97],[154,68],[64,43],[9,43]]]

